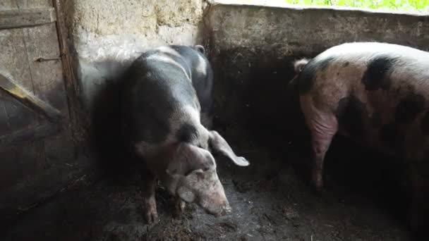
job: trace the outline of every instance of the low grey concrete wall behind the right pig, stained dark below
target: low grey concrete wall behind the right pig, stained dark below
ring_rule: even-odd
[[[242,119],[262,130],[267,140],[277,133],[303,135],[289,121],[296,121],[289,117],[298,111],[298,104],[286,96],[286,85],[294,77],[292,60],[355,41],[428,50],[428,20],[369,11],[215,4],[205,25],[217,81],[217,121],[229,125]],[[289,132],[273,131],[285,128]]]

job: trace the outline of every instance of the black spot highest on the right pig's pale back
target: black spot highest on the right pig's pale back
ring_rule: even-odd
[[[377,56],[368,63],[368,68],[362,77],[366,90],[389,89],[390,79],[387,76],[395,58],[391,56]]]

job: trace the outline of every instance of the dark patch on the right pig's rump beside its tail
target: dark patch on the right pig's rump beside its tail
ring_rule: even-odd
[[[334,57],[323,58],[322,60],[313,58],[308,62],[298,78],[299,94],[307,94],[313,86],[316,73],[325,70],[333,60]]]

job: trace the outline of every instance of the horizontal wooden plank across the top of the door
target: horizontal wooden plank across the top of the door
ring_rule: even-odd
[[[0,30],[43,25],[53,23],[55,20],[54,8],[0,10]]]

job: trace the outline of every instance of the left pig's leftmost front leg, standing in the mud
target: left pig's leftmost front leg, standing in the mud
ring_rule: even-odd
[[[143,179],[143,216],[147,223],[158,220],[157,201],[155,199],[156,177],[147,168],[142,171]]]

